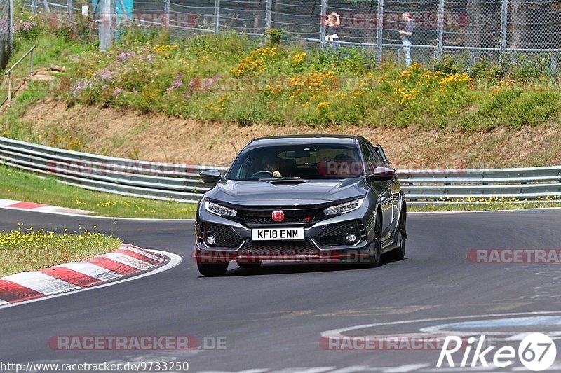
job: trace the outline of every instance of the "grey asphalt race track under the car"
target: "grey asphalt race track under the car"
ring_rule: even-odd
[[[184,262],[135,281],[0,309],[0,362],[176,360],[189,362],[194,372],[447,372],[435,368],[439,351],[325,351],[320,336],[364,324],[377,326],[350,335],[395,335],[462,321],[461,316],[505,318],[561,309],[559,265],[467,260],[471,248],[559,248],[560,209],[411,214],[407,258],[401,262],[375,269],[292,264],[242,269],[231,264],[222,278],[198,275],[191,260],[192,221],[102,220],[0,210],[0,229],[17,229],[18,223],[60,230],[97,225],[98,231],[130,244],[176,253]],[[415,321],[426,318],[432,321]],[[474,319],[494,318],[499,316]],[[391,324],[395,321],[405,323]],[[558,329],[559,325],[538,323],[529,331]],[[502,331],[515,335],[528,329],[515,325]],[[190,335],[199,340],[221,336],[226,337],[227,349],[57,351],[48,346],[48,339],[56,335]],[[551,369],[561,371],[561,353],[557,356]]]

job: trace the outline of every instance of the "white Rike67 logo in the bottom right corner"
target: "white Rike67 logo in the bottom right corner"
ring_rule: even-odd
[[[449,367],[475,367],[479,363],[483,367],[489,367],[490,361],[494,367],[504,368],[515,364],[518,358],[527,369],[540,371],[553,365],[557,356],[553,340],[543,333],[532,333],[524,337],[518,346],[518,351],[513,346],[502,346],[499,349],[496,346],[489,346],[483,349],[486,345],[485,335],[480,336],[479,339],[469,337],[467,346],[465,344],[462,346],[461,342],[461,337],[447,336],[436,366],[442,367],[446,359]],[[454,355],[457,352],[458,354]],[[454,358],[460,357],[461,362],[458,364]]]

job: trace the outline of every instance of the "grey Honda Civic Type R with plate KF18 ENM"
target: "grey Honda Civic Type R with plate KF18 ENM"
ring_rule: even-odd
[[[204,276],[229,262],[349,262],[376,267],[405,256],[407,209],[381,146],[360,136],[250,141],[198,203],[195,258]]]

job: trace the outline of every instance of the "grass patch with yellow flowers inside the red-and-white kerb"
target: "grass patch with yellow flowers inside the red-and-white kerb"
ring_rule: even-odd
[[[34,230],[18,224],[17,230],[0,232],[0,276],[32,271],[108,253],[121,246],[114,237],[89,230],[63,232]]]

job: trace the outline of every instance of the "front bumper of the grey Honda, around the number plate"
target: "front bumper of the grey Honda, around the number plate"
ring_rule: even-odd
[[[375,210],[374,210],[375,211]],[[244,225],[211,213],[202,213],[197,220],[195,258],[201,263],[313,261],[364,262],[370,255],[373,239],[374,215],[365,207],[317,223]],[[252,241],[252,229],[271,227],[303,227],[304,241]],[[337,241],[337,235],[352,230],[357,241],[346,244]],[[215,246],[209,246],[205,237],[215,234]]]

